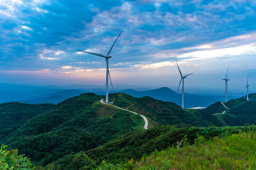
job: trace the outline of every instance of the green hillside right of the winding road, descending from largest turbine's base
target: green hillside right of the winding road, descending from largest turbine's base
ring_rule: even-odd
[[[163,102],[149,96],[136,98],[125,93],[113,93],[110,94],[110,101],[121,108],[146,115],[162,125],[191,125],[197,127],[223,125],[219,119],[207,112],[188,112],[173,102]]]

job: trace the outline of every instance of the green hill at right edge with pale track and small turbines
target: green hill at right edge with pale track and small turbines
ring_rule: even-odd
[[[230,126],[241,126],[245,123],[255,124],[256,93],[249,94],[250,101],[245,96],[228,102],[215,102],[203,109]],[[226,108],[225,106],[228,108]]]

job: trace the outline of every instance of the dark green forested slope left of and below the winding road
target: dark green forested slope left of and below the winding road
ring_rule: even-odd
[[[0,143],[17,148],[38,165],[46,165],[64,155],[100,146],[120,134],[143,129],[140,116],[99,101],[93,93],[67,99],[27,119]]]

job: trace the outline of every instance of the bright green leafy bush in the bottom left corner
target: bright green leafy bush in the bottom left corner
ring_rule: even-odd
[[[7,150],[7,145],[2,144],[0,148],[0,170],[35,170],[32,163],[18,155],[18,150]]]

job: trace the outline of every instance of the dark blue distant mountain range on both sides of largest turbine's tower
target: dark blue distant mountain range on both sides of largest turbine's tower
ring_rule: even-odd
[[[70,97],[74,97],[76,95],[79,95],[81,93],[86,92],[93,92],[97,95],[105,95],[104,91],[101,91],[102,89],[93,89],[91,91],[89,90],[62,90],[57,91],[54,93],[48,93],[44,95],[40,95],[32,100],[15,100],[10,102],[23,102],[23,103],[59,103],[64,101],[65,99],[68,99]],[[110,91],[110,93],[116,93],[114,91]],[[134,89],[126,89],[121,90],[119,93],[127,93],[134,97],[143,97],[143,96],[150,96],[154,99],[165,101],[165,102],[174,102],[178,105],[181,105],[182,101],[182,94],[178,94],[171,90],[168,87],[161,87],[154,90],[146,90],[146,91],[136,91]],[[195,108],[195,107],[207,107],[210,106],[210,104],[221,101],[224,99],[224,96],[221,95],[199,95],[199,94],[184,94],[184,108]]]

